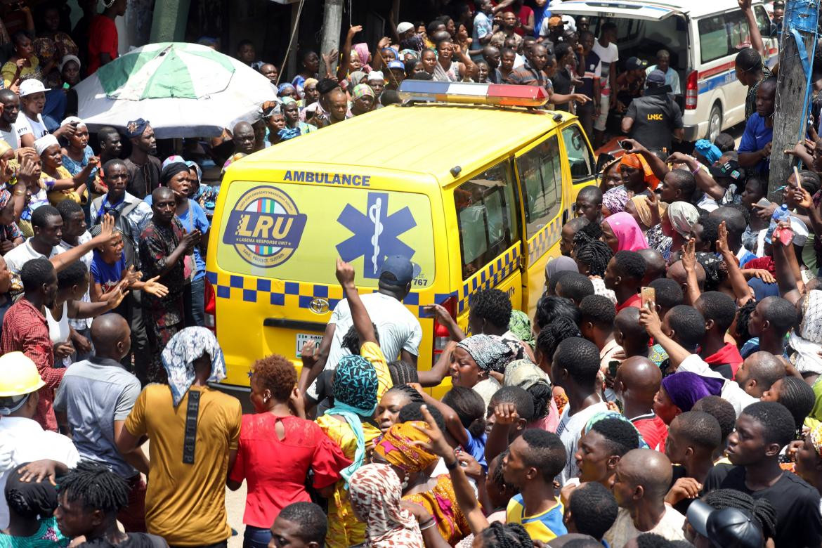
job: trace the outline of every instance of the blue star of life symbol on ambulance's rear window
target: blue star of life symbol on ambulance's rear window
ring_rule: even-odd
[[[337,222],[353,235],[337,244],[339,256],[346,262],[363,256],[363,277],[377,279],[386,256],[404,256],[411,259],[414,250],[399,240],[399,236],[417,226],[411,210],[403,209],[388,214],[388,193],[368,192],[365,213],[346,204]]]

